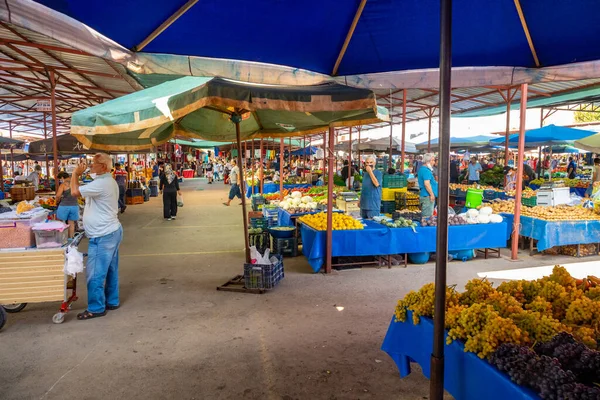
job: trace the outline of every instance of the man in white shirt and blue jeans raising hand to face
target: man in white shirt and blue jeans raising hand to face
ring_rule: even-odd
[[[71,179],[71,195],[85,199],[83,227],[89,238],[87,260],[88,307],[77,314],[77,319],[87,320],[116,310],[119,301],[119,246],[123,228],[117,218],[119,187],[110,170],[112,160],[108,154],[98,153],[90,165],[94,179],[79,186],[86,164],[79,164]]]

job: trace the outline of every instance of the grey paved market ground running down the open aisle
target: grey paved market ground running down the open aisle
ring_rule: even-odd
[[[183,190],[176,221],[162,219],[157,198],[122,216],[119,310],[77,321],[82,290],[62,325],[51,323],[57,303],[9,316],[0,399],[427,398],[418,367],[400,379],[379,347],[396,300],[432,281],[433,263],[325,276],[297,257],[285,260],[286,277],[271,293],[217,292],[242,270],[241,207],[221,204],[222,184],[194,179]],[[573,261],[452,262],[448,281]]]

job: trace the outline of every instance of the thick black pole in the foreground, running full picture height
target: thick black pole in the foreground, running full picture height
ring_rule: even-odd
[[[440,113],[439,113],[439,188],[435,261],[435,304],[433,352],[429,398],[444,397],[444,345],[446,313],[446,267],[448,264],[448,182],[450,171],[450,93],[452,78],[452,0],[440,0]],[[403,125],[406,115],[406,90],[403,98]],[[402,132],[404,144],[404,130]],[[404,167],[404,157],[402,157]]]

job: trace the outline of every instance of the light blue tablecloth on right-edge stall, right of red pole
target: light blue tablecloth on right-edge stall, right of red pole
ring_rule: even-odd
[[[515,216],[502,214],[512,229]],[[600,221],[544,221],[521,215],[519,233],[538,241],[538,251],[569,244],[600,243]]]

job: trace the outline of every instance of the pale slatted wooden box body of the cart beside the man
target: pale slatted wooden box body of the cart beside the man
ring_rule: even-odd
[[[63,301],[64,249],[0,251],[0,304]]]

